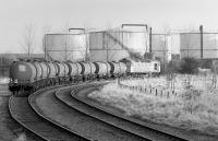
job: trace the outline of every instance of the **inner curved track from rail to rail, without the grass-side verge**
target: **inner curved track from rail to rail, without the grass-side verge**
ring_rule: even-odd
[[[144,140],[154,140],[154,141],[182,141],[183,140],[179,137],[161,133],[157,130],[145,128],[141,125],[136,125],[134,122],[123,120],[122,118],[119,118],[111,114],[99,110],[98,108],[93,107],[90,105],[84,104],[83,102],[72,96],[72,95],[76,95],[77,91],[81,91],[81,90],[86,91],[86,93],[89,93],[90,89],[93,89],[93,85],[77,86],[77,87],[71,87],[71,89],[65,87],[65,89],[61,89],[57,91],[56,96],[61,102],[70,106],[71,108],[80,110],[81,113],[84,113],[87,116],[101,120],[102,122],[109,124],[116,128],[128,131],[129,133],[138,136],[143,138]]]

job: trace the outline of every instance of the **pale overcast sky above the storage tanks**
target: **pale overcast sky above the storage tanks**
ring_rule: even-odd
[[[23,52],[24,28],[32,23],[35,52],[41,52],[43,28],[108,27],[147,23],[155,31],[204,25],[218,31],[217,0],[0,0],[0,54]]]

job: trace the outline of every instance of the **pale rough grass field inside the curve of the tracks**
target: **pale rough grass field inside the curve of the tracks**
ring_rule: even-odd
[[[187,79],[189,85],[185,84]],[[209,77],[178,75],[174,93],[167,87],[165,77],[123,80],[121,84],[128,86],[112,83],[88,96],[124,110],[126,116],[217,134],[218,89],[213,87],[211,80]]]

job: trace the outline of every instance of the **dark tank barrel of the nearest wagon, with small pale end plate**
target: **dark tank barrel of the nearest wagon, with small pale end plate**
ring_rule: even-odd
[[[25,61],[15,61],[10,67],[10,78],[17,83],[29,83],[36,79],[36,68]]]

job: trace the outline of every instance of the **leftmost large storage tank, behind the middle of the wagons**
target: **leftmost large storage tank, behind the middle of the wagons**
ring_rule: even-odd
[[[47,59],[84,61],[88,54],[86,34],[46,34],[44,46]]]

